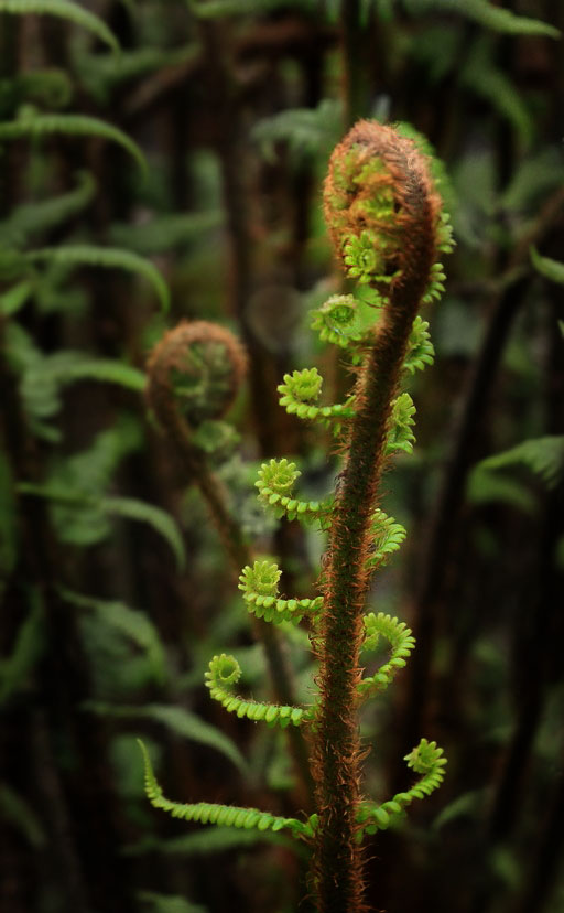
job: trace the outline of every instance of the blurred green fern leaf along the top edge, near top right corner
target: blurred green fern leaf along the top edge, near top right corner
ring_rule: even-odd
[[[554,25],[517,15],[511,10],[495,7],[488,0],[403,0],[408,12],[423,15],[430,12],[453,12],[478,22],[485,29],[503,32],[508,35],[547,35],[560,37]]]

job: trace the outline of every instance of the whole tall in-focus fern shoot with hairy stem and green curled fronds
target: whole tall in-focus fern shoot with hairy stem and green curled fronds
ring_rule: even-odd
[[[319,502],[300,500],[300,472],[288,459],[264,463],[257,486],[278,517],[316,523],[328,530],[322,595],[285,599],[280,570],[263,558],[243,568],[240,589],[249,612],[274,624],[305,621],[319,663],[317,697],[307,707],[248,700],[235,690],[237,660],[225,654],[209,664],[210,695],[230,712],[269,726],[305,727],[312,738],[315,813],[306,820],[276,818],[257,809],[180,805],[164,799],[147,753],[148,795],[154,805],[191,820],[234,827],[285,829],[312,846],[312,891],[319,913],[359,913],[364,903],[362,841],[404,815],[444,777],[442,749],[422,739],[406,756],[413,785],[383,803],[361,793],[359,709],[380,694],[414,647],[411,631],[382,612],[367,612],[376,570],[397,551],[405,530],[379,506],[380,481],[398,452],[413,449],[411,397],[402,379],[433,361],[427,324],[417,311],[437,298],[444,275],[437,256],[451,249],[430,159],[390,127],[359,121],[335,149],[324,190],[325,215],[346,275],[375,307],[373,326],[358,329],[359,302],[333,296],[314,314],[324,341],[348,350],[358,365],[354,390],[338,406],[318,406],[323,378],[315,368],[294,372],[279,387],[289,412],[330,427],[339,439],[344,468],[339,485]],[[362,675],[365,656],[384,641],[388,659]]]

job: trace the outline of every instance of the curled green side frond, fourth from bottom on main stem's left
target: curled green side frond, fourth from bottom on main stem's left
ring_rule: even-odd
[[[291,463],[285,456],[282,460],[262,463],[259,479],[254,483],[259,490],[259,498],[267,507],[272,508],[279,519],[285,515],[289,520],[318,520],[323,525],[328,519],[333,501],[299,501],[291,497],[294,482],[300,475],[295,463]]]

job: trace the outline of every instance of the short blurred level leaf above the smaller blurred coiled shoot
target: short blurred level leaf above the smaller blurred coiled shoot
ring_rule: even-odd
[[[110,239],[139,254],[163,254],[221,225],[220,211],[156,216],[144,225],[112,225]]]

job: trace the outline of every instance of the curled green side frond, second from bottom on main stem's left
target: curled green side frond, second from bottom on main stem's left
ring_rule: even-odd
[[[289,723],[300,726],[313,717],[312,710],[303,707],[290,707],[279,703],[261,703],[257,700],[246,700],[234,695],[231,685],[236,685],[241,677],[241,667],[234,656],[221,653],[214,656],[209,662],[206,672],[206,687],[214,700],[225,707],[229,713],[237,713],[238,717],[248,717],[249,720],[258,722],[264,720],[269,726],[280,726],[284,729]]]

